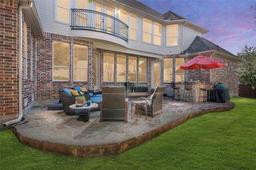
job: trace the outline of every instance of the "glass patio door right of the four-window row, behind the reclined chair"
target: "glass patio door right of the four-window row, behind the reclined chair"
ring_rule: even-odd
[[[152,61],[151,63],[151,88],[162,85],[161,61]]]

